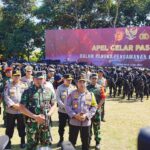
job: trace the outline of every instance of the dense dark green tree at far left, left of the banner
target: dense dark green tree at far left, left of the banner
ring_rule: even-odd
[[[23,57],[33,49],[34,21],[32,11],[34,0],[2,0],[0,22],[0,49],[7,57]]]

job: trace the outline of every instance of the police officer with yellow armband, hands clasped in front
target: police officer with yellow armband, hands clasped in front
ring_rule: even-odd
[[[94,94],[86,89],[86,78],[79,77],[77,90],[67,98],[66,111],[70,117],[69,141],[75,146],[80,131],[82,150],[89,150],[91,118],[96,107]]]

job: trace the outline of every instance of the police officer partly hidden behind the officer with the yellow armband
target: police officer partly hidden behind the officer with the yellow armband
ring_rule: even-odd
[[[66,113],[65,110],[65,101],[67,96],[74,91],[76,88],[73,86],[72,80],[73,77],[71,74],[65,74],[64,76],[64,83],[58,86],[57,91],[56,91],[56,99],[57,99],[57,104],[58,104],[58,116],[59,116],[59,137],[60,140],[57,144],[57,146],[61,146],[61,143],[64,140],[64,128],[66,126],[67,121],[69,121],[69,116]]]

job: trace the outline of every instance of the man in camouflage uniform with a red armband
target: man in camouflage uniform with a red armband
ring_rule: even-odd
[[[98,104],[96,114],[92,118],[92,125],[91,125],[91,133],[92,133],[92,126],[94,130],[95,135],[95,141],[96,141],[96,149],[100,150],[100,141],[101,141],[101,135],[100,135],[100,122],[101,122],[101,106],[104,103],[104,90],[102,90],[98,82],[98,75],[96,73],[92,73],[90,76],[91,83],[87,86],[87,89],[90,92],[93,92]]]

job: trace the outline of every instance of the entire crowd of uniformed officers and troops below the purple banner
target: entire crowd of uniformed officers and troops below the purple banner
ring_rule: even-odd
[[[3,63],[0,70],[0,101],[10,139],[7,149],[11,149],[15,125],[21,148],[49,147],[53,140],[51,115],[58,106],[57,146],[62,145],[68,124],[68,140],[74,147],[80,132],[82,150],[89,150],[93,130],[95,148],[99,150],[107,88],[112,99],[127,96],[128,100],[135,97],[143,102],[144,95],[149,98],[149,69]]]

